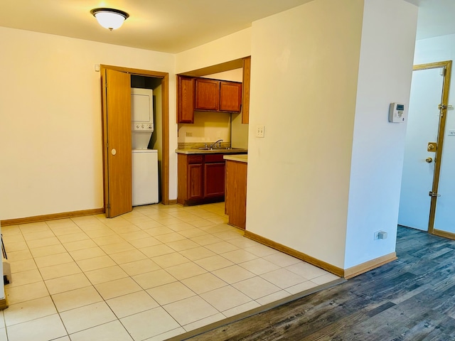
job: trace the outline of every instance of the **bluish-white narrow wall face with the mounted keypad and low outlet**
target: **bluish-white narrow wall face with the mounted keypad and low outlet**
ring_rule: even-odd
[[[395,251],[406,125],[389,123],[388,109],[409,103],[416,26],[417,6],[365,0],[345,269]],[[387,239],[374,240],[378,230]]]

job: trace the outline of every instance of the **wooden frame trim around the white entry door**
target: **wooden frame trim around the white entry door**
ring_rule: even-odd
[[[436,150],[436,155],[434,156],[434,175],[433,175],[433,184],[432,192],[438,193],[439,186],[439,173],[441,172],[441,161],[442,161],[442,148],[444,146],[444,131],[446,127],[446,116],[447,108],[443,107],[448,104],[449,101],[449,87],[450,87],[450,77],[451,77],[451,60],[445,60],[437,63],[428,63],[428,64],[419,64],[414,65],[412,68],[413,71],[417,70],[428,70],[428,69],[437,69],[444,68],[444,80],[442,82],[442,94],[441,94],[441,109],[439,109],[439,124],[438,124],[438,147]],[[435,234],[434,231],[434,217],[436,215],[436,204],[437,197],[432,197],[430,206],[429,206],[429,220],[428,220],[428,233]]]

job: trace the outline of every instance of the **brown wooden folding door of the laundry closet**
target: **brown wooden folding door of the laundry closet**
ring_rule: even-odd
[[[131,76],[109,69],[102,76],[105,208],[116,217],[132,210]]]

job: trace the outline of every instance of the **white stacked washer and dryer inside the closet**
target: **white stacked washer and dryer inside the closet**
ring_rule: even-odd
[[[133,206],[159,202],[158,151],[148,149],[154,132],[153,91],[132,88],[132,188]]]

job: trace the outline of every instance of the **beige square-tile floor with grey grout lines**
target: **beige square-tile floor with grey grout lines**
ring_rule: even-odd
[[[0,341],[165,340],[338,279],[227,221],[220,202],[2,227]]]

